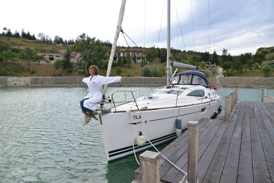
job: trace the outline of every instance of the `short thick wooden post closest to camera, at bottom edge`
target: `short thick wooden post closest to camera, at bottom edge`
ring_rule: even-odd
[[[160,183],[160,153],[145,151],[140,159],[140,183]]]

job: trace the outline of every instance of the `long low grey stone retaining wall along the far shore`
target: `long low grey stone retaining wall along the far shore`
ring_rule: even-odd
[[[0,77],[0,87],[84,87],[85,77]],[[209,78],[208,82],[209,82]],[[274,87],[274,77],[225,77],[218,78],[223,87]],[[216,78],[210,83],[216,85]],[[112,83],[109,86],[164,86],[166,78],[159,77],[127,77],[121,83]]]

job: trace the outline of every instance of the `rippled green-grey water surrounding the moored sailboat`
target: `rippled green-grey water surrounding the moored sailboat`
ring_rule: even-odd
[[[150,88],[108,87],[107,95],[116,90],[136,91],[138,98],[139,91]],[[223,88],[223,96],[234,90]],[[133,171],[139,167],[134,155],[108,164],[100,123],[82,125],[78,102],[86,94],[85,87],[0,88],[0,182],[134,180]],[[124,93],[114,96],[119,100]],[[261,97],[253,88],[239,88],[239,100]]]

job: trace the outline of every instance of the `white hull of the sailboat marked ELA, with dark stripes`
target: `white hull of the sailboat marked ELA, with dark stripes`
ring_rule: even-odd
[[[220,99],[221,97],[218,98],[218,100]],[[219,108],[218,100],[213,100],[210,104],[207,102],[180,107],[182,131],[187,129],[190,120],[199,121],[202,118],[213,116]],[[206,108],[206,110],[201,112],[202,108]],[[151,147],[148,141],[144,146],[136,145],[135,138],[140,132],[136,123],[154,145],[176,138],[175,120],[177,116],[178,107],[100,115],[107,160],[110,162],[134,153],[132,140],[136,152]]]

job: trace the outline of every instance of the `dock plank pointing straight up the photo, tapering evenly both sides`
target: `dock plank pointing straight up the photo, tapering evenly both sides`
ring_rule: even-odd
[[[247,176],[248,175],[248,176]],[[253,183],[249,102],[245,102],[237,182]]]

